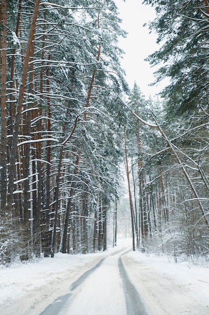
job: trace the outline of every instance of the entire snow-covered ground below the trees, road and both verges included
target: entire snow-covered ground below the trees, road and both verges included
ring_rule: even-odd
[[[208,266],[147,257],[130,244],[0,269],[0,314],[209,314]]]

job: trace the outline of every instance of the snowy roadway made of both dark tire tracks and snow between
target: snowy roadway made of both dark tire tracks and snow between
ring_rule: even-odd
[[[102,258],[41,315],[148,315],[123,264],[127,249]]]

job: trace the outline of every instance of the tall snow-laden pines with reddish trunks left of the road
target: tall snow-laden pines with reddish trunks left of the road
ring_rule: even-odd
[[[128,87],[119,62],[117,38],[125,32],[117,7],[113,1],[73,0],[34,5],[12,1],[5,13],[7,113],[2,107],[2,114],[11,161],[8,168],[2,155],[0,256],[5,264],[16,254],[28,260],[70,248],[105,250],[107,210],[120,189],[119,95]],[[6,218],[18,222],[17,242],[26,246],[19,249],[7,237],[15,225],[9,228]]]

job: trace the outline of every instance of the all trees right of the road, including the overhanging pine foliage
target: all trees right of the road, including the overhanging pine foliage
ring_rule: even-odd
[[[205,37],[208,4],[144,3],[156,9],[157,17],[149,26],[157,31],[161,43],[159,51],[147,59],[151,64],[162,65],[156,71],[157,81],[170,79],[161,94],[164,101],[160,111],[157,104],[152,106],[154,114],[147,108],[145,119],[144,113],[134,108],[136,100],[130,103],[131,110],[140,116],[140,124],[146,121],[144,125],[152,128],[149,141],[144,143],[141,137],[147,235],[151,237],[146,238],[145,246],[151,250],[156,245],[155,251],[161,247],[163,252],[174,255],[175,260],[178,255],[206,257],[209,248]],[[140,234],[143,233],[142,230]]]

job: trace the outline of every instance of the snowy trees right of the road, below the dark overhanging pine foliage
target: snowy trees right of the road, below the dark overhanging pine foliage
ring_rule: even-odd
[[[141,112],[136,114],[139,103]],[[154,107],[156,109],[157,104]],[[185,132],[176,122],[167,125],[165,116],[152,113],[150,101],[145,101],[136,85],[131,92],[129,109],[137,119],[131,118],[128,144],[136,195],[136,221],[139,222],[135,228],[139,230],[142,252],[162,251],[173,255],[175,261],[180,255],[184,258],[206,257],[208,191],[203,188],[206,182],[196,159],[201,159],[204,172],[207,172],[207,163],[203,150],[201,158],[199,154],[198,158],[195,155],[196,141],[199,145],[205,141],[201,138],[202,133],[198,134],[199,130],[207,124]],[[136,123],[141,125],[140,146]],[[171,138],[173,130],[176,137]],[[186,143],[192,146],[187,147]],[[204,176],[206,178],[206,173]]]

